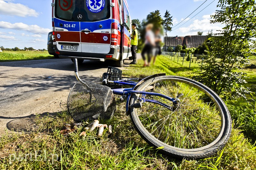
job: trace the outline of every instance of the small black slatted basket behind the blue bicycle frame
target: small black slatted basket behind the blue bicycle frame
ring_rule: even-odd
[[[120,70],[116,67],[108,66],[108,79],[110,81],[122,80],[122,70]],[[109,83],[108,87],[110,87],[111,89],[120,89],[120,88],[122,88],[122,85]]]

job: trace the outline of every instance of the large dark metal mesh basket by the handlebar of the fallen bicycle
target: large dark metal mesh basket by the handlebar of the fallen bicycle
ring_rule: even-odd
[[[78,81],[68,96],[68,112],[75,121],[112,118],[116,110],[114,94],[107,86]]]

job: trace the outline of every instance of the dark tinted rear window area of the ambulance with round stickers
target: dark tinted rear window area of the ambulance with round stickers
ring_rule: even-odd
[[[110,18],[109,0],[56,0],[55,17],[65,21],[95,22]],[[78,15],[82,19],[78,19]]]

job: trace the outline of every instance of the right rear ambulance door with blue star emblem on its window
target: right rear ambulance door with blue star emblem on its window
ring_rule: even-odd
[[[112,12],[110,0],[84,0],[80,4],[83,53],[110,52]]]

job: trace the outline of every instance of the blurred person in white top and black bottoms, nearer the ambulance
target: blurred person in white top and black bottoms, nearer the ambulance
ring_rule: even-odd
[[[152,31],[152,28],[153,28],[153,24],[148,24],[146,26],[146,36],[145,36],[146,41],[145,41],[145,46],[143,47],[141,52],[142,59],[144,60],[143,67],[150,66],[151,55],[153,52],[153,47],[155,46],[155,35],[154,35],[154,32]],[[146,60],[146,56],[145,56],[146,53],[148,55],[148,61]]]

